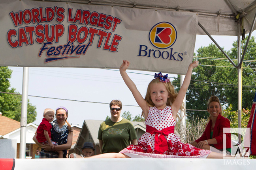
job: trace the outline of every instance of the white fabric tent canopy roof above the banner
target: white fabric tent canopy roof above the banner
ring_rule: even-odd
[[[62,0],[45,1],[62,2]],[[236,16],[243,18],[241,29],[249,33],[256,8],[256,0],[66,0],[66,2],[195,12],[199,15],[199,22],[211,35],[235,36],[238,32]],[[254,27],[253,30],[255,29]],[[197,34],[205,34],[205,32],[198,27]]]

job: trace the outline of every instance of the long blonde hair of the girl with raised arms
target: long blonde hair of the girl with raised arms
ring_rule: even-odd
[[[161,82],[159,78],[156,78],[156,79],[152,79],[152,81],[149,83],[148,88],[147,88],[147,93],[146,93],[146,96],[145,96],[145,100],[146,100],[147,104],[149,105],[149,107],[153,107],[154,106],[154,103],[152,102],[151,95],[150,95],[151,94],[150,87],[154,83],[156,83],[156,84],[162,83],[162,84],[165,85],[165,87],[166,87],[166,89],[168,91],[168,95],[170,96],[167,99],[166,105],[171,106],[171,104],[175,101],[175,99],[176,99],[176,97],[178,95],[177,91],[175,91],[175,88],[174,88],[174,86],[172,85],[172,83],[170,81],[168,83],[164,83],[164,82]],[[182,103],[180,109],[182,111],[184,111],[184,113],[185,113],[185,109],[184,109],[183,105],[184,105],[184,103]],[[142,116],[144,117],[144,113],[143,112],[141,113],[141,117]],[[179,118],[179,120],[181,120],[179,115],[177,115],[177,118]]]

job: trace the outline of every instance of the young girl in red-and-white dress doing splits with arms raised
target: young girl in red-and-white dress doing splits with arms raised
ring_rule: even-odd
[[[138,145],[130,145],[119,153],[105,153],[95,157],[223,158],[220,153],[183,144],[174,134],[177,113],[183,108],[181,105],[190,83],[192,69],[198,66],[198,61],[189,65],[179,93],[175,92],[168,75],[162,76],[159,73],[149,83],[145,99],[126,73],[129,65],[130,62],[124,60],[120,66],[120,74],[144,113],[146,133],[138,140]]]

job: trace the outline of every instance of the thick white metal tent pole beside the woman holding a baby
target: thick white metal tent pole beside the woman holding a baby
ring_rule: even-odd
[[[19,158],[26,158],[26,125],[28,114],[28,67],[23,67],[23,84],[21,100],[21,140]]]

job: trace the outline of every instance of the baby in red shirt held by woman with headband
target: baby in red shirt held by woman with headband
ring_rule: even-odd
[[[51,146],[51,149],[54,150],[54,146],[57,146],[58,144],[51,140],[51,129],[52,125],[50,122],[53,121],[54,118],[54,110],[53,109],[45,109],[43,111],[43,120],[38,126],[36,133],[36,139],[38,142],[42,144],[49,144]],[[63,158],[63,152],[62,151],[56,151],[58,152],[58,158]]]

